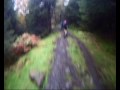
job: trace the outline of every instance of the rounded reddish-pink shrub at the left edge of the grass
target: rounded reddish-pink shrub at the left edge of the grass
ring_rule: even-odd
[[[24,33],[13,43],[13,51],[16,55],[21,55],[37,46],[39,37],[34,34]]]

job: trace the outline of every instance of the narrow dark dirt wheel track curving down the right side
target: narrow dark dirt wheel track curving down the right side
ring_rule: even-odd
[[[80,50],[83,52],[84,58],[86,60],[86,64],[88,66],[88,70],[90,74],[92,75],[93,82],[96,87],[95,89],[103,90],[104,89],[103,83],[100,79],[99,74],[97,73],[97,70],[94,64],[94,58],[90,54],[89,50],[76,36],[72,35],[70,32],[69,32],[69,36],[73,38],[74,40],[76,40],[77,44],[79,45]]]

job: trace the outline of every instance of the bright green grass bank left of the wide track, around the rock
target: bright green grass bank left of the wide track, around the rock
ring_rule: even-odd
[[[5,89],[38,89],[35,83],[29,78],[30,70],[39,70],[45,73],[46,78],[43,84],[43,88],[48,81],[48,75],[51,69],[51,61],[53,60],[53,49],[55,44],[53,43],[58,37],[58,33],[54,33],[44,39],[42,39],[39,45],[30,52],[20,57],[17,63],[23,61],[25,65],[21,69],[17,69],[17,65],[13,65],[12,70],[8,69],[4,71],[4,88]]]

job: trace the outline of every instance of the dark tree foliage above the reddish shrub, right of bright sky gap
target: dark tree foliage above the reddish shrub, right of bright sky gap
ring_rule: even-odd
[[[51,31],[51,16],[56,0],[30,1],[30,13],[26,15],[27,27],[30,32],[43,34]],[[43,3],[43,6],[40,6]],[[45,34],[46,35],[46,34]]]

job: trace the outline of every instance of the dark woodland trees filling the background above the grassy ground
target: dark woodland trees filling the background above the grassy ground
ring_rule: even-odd
[[[10,55],[11,43],[18,35],[29,32],[46,37],[52,32],[52,24],[56,23],[58,16],[55,16],[56,0],[30,0],[26,9],[29,13],[19,18],[13,1],[4,0],[5,57]],[[55,23],[51,22],[52,18]],[[116,0],[70,0],[64,11],[60,11],[59,18],[57,23],[66,18],[69,26],[75,25],[116,38]]]

